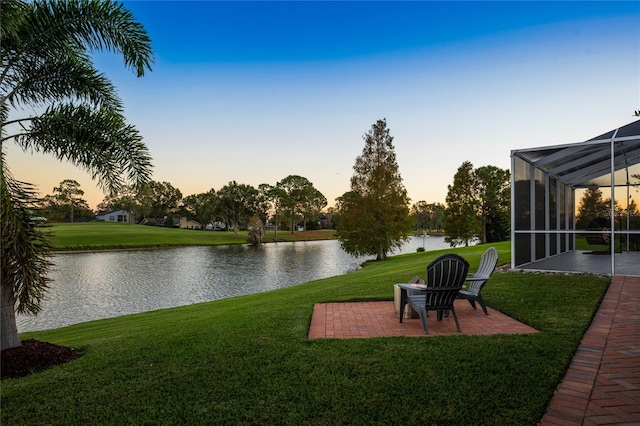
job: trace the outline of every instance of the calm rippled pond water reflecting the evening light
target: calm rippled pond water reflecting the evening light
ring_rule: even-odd
[[[444,237],[413,237],[396,254],[447,248]],[[290,287],[356,270],[340,243],[181,247],[52,258],[54,280],[37,316],[19,316],[18,330],[36,331],[155,309]]]

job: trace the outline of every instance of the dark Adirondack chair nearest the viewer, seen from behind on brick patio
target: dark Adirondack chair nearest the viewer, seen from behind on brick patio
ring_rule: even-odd
[[[427,266],[427,280],[420,294],[407,294],[415,284],[400,284],[400,287],[405,289],[402,293],[400,322],[402,322],[404,304],[408,303],[420,315],[425,334],[429,334],[428,311],[436,311],[438,321],[442,319],[445,311],[451,311],[456,321],[456,328],[461,331],[453,302],[462,288],[467,272],[469,272],[469,263],[462,256],[449,253],[438,257]]]

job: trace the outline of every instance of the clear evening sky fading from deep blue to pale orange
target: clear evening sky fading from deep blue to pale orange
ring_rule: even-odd
[[[183,196],[229,181],[309,179],[350,189],[363,136],[386,118],[411,202],[444,203],[464,161],[510,168],[511,150],[582,142],[640,110],[640,2],[124,3],[155,53],[144,77],[96,66]],[[10,146],[16,178],[51,194],[90,174]]]

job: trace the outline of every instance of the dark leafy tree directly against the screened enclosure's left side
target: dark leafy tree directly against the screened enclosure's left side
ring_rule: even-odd
[[[496,166],[484,166],[477,168],[474,174],[480,201],[482,242],[508,239],[511,233],[511,173]]]

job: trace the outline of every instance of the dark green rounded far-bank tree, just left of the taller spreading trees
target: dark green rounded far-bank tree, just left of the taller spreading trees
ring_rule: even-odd
[[[258,190],[251,185],[238,184],[235,180],[218,191],[218,215],[238,235],[240,226],[246,225],[256,212]]]

